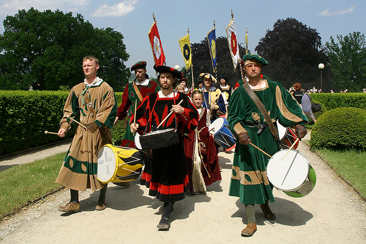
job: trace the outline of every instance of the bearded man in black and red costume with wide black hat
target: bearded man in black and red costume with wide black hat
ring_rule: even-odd
[[[170,212],[176,201],[184,199],[188,183],[182,134],[197,126],[198,112],[185,94],[173,90],[173,83],[182,79],[182,72],[164,65],[154,65],[154,69],[159,72],[162,90],[143,99],[136,111],[136,123],[131,117],[130,129],[140,135],[167,128],[177,128],[179,132],[178,143],[150,150],[141,179],[141,184],[149,188],[149,195],[164,203],[162,219],[157,227],[169,229]],[[170,111],[174,113],[158,129]]]

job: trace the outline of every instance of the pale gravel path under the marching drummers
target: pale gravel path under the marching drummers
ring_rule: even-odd
[[[65,151],[67,150],[67,146]],[[273,190],[271,209],[276,220],[264,219],[255,206],[257,243],[365,244],[365,202],[304,142],[298,150],[317,174],[314,190],[303,198],[291,198]],[[69,201],[69,191],[48,196],[0,222],[0,243],[239,243],[246,224],[244,205],[228,196],[233,153],[219,153],[221,182],[200,195],[186,194],[174,206],[169,231],[158,231],[162,203],[148,196],[138,181],[129,188],[109,184],[107,208],[96,211],[99,193],[80,192],[81,212],[62,214],[57,207]]]

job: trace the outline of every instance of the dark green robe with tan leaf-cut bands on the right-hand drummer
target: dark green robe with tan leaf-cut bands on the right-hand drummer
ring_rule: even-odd
[[[264,88],[253,91],[263,102],[272,121],[278,120],[284,126],[305,125],[305,114],[283,85],[277,81],[264,81]],[[279,142],[274,139],[269,127],[265,127],[258,135],[258,128],[250,125],[266,122],[243,86],[239,86],[231,96],[228,122],[233,132],[234,126],[240,123],[251,141],[268,154],[273,155],[279,150]],[[274,202],[272,187],[266,174],[268,158],[251,145],[236,143],[229,195],[240,197],[244,204],[262,204],[266,200]]]

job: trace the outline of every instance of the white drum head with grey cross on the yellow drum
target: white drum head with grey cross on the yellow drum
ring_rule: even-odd
[[[116,174],[116,156],[112,148],[102,146],[98,150],[98,173],[97,178],[105,183]]]

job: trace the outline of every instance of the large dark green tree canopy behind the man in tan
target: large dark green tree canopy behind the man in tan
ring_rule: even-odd
[[[80,14],[19,10],[3,21],[0,35],[0,89],[57,90],[83,80],[82,58],[100,61],[98,76],[122,91],[130,71],[123,36],[112,28],[98,29]]]

